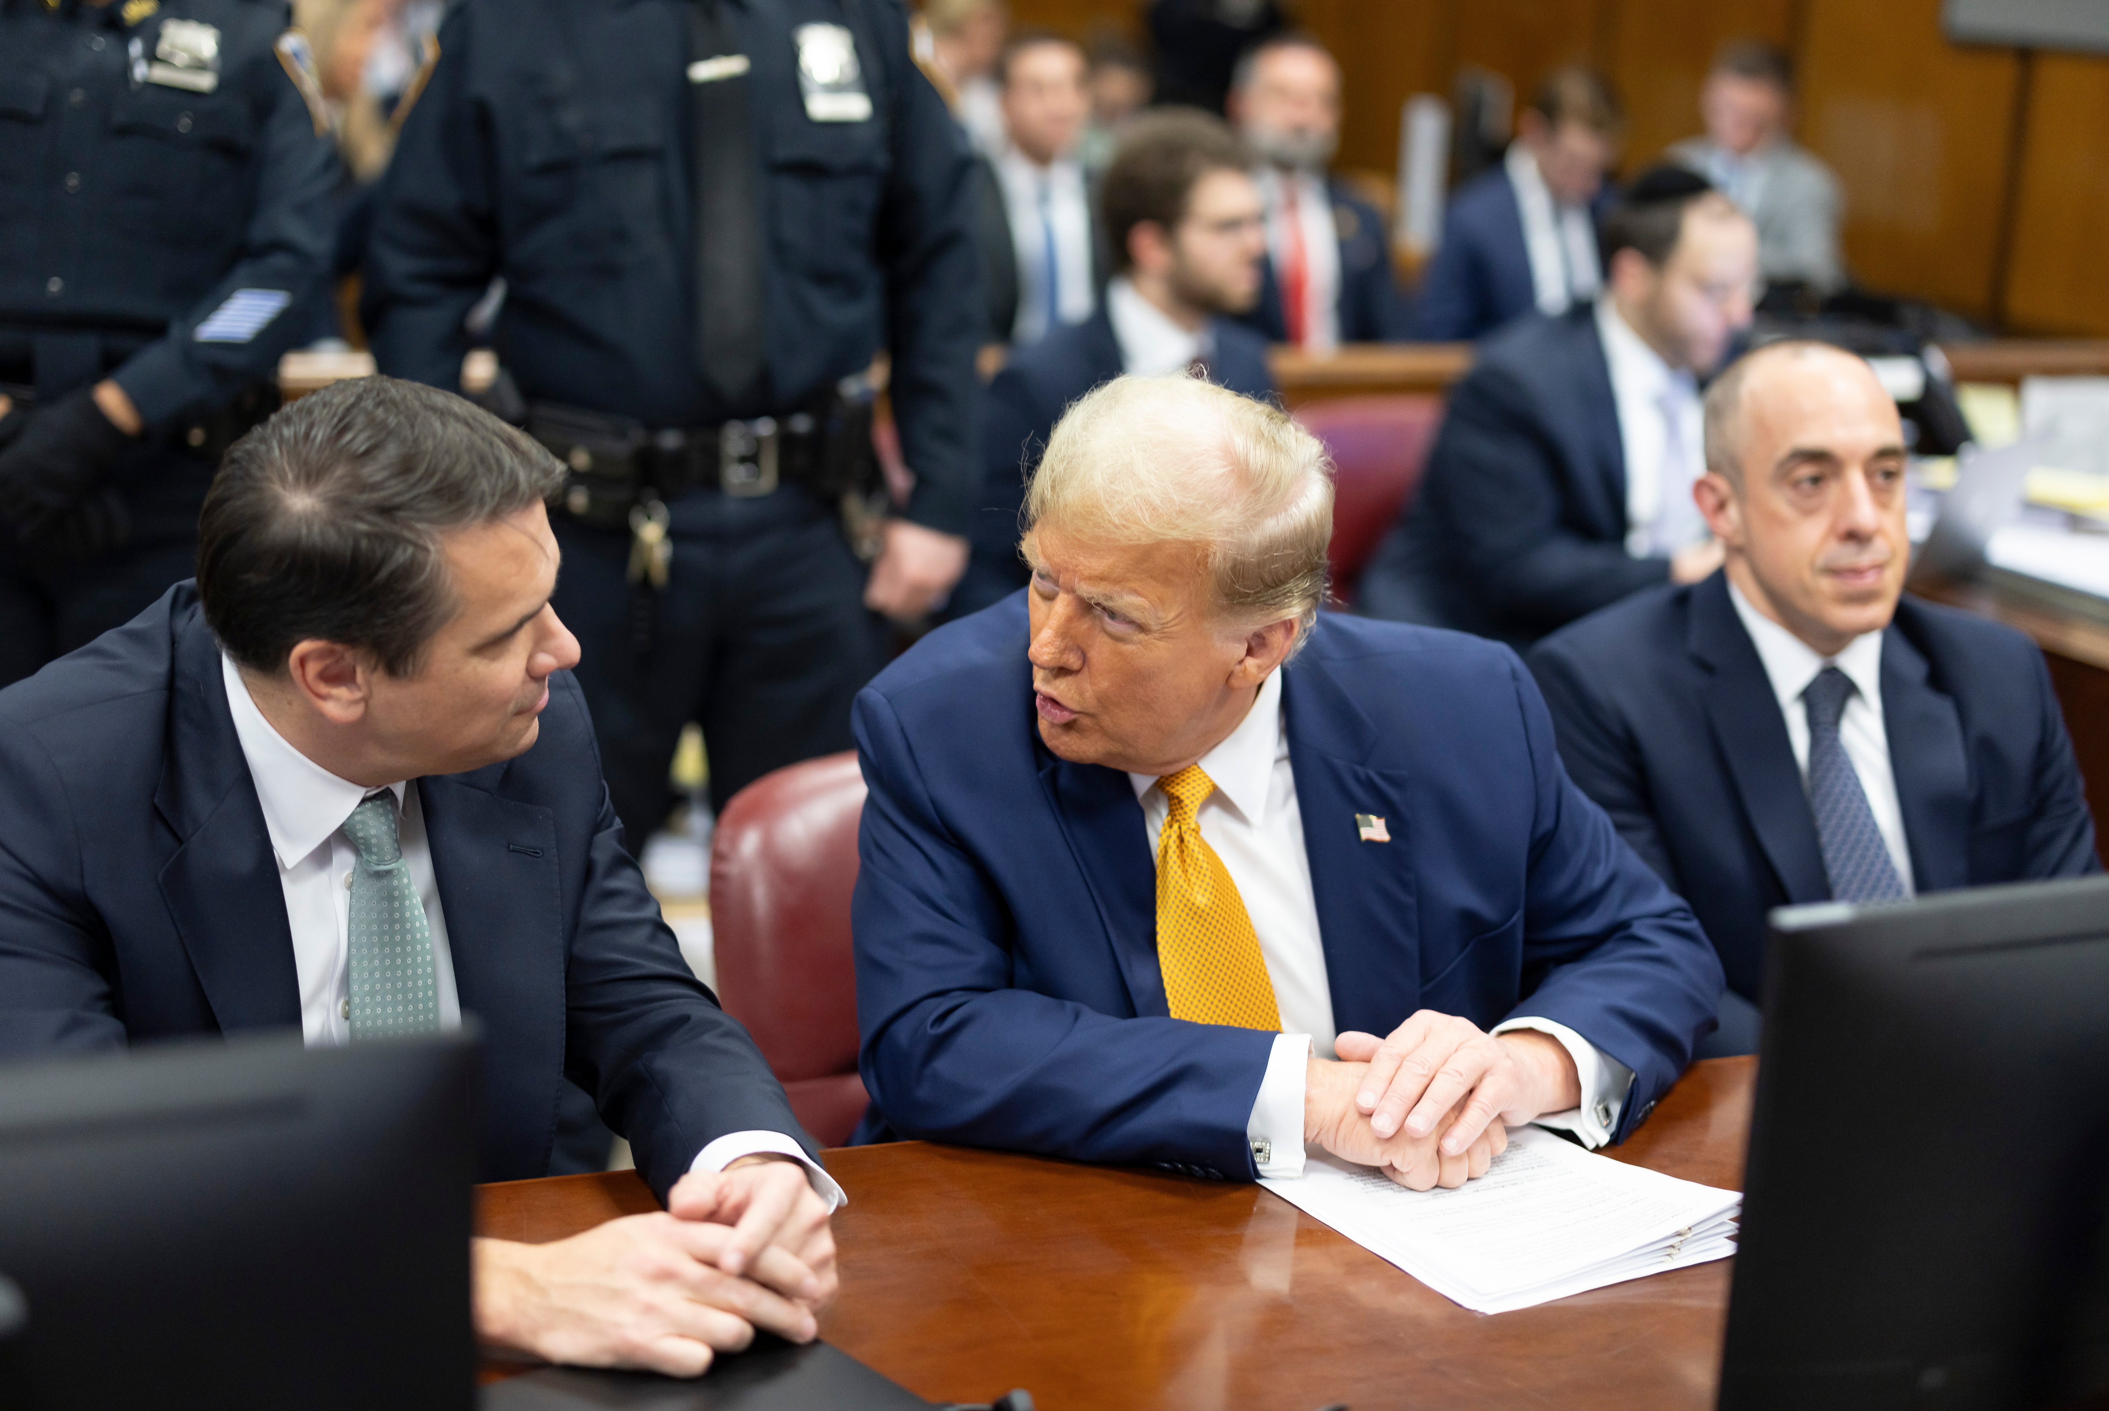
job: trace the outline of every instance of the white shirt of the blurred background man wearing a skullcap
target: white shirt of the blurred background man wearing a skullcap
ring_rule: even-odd
[[[1626,553],[1666,559],[1706,538],[1706,519],[1691,502],[1691,483],[1706,470],[1698,382],[1664,363],[1611,299],[1597,302],[1597,337],[1626,453]]]

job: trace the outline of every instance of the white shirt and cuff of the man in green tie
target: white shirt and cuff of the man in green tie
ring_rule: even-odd
[[[249,696],[249,683],[221,654],[219,673],[228,688],[228,713],[240,740],[249,778],[264,808],[278,861],[278,888],[293,932],[293,974],[299,983],[299,1031],[308,1048],[335,1048],[352,1038],[352,865],[359,850],[344,825],[373,789],[337,778],[278,734]],[[453,985],[453,951],[447,945],[447,913],[439,905],[432,848],[424,833],[424,806],[409,780],[388,785],[401,808],[403,865],[409,869],[424,922],[432,934],[432,970],[439,989],[439,1027],[462,1027],[462,1000]],[[814,1190],[841,1204],[841,1187],[806,1160],[806,1152],[785,1133],[728,1133],[696,1154],[690,1171],[723,1171],[742,1156],[780,1154],[806,1166]]]

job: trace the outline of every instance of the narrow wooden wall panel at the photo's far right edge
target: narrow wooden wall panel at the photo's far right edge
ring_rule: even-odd
[[[2109,335],[2109,59],[2035,55],[2006,316]]]

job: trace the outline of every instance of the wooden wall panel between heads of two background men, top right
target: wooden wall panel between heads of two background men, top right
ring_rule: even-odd
[[[1626,103],[1626,169],[1651,165],[1672,141],[1700,133],[1700,84],[1723,40],[1793,34],[1793,0],[1620,0],[1605,72]]]

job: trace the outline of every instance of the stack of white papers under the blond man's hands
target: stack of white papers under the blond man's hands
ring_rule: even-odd
[[[1525,1126],[1459,1190],[1413,1192],[1314,1154],[1276,1196],[1483,1314],[1736,1253],[1742,1194],[1594,1156]]]

